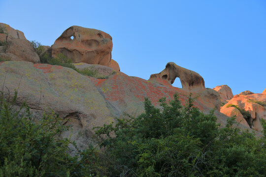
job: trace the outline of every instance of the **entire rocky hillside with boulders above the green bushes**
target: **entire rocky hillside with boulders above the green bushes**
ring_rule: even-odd
[[[45,47],[48,56],[64,54],[72,60],[74,68],[41,63],[23,32],[6,24],[0,27],[3,29],[0,33],[0,88],[5,96],[12,96],[17,90],[16,104],[26,100],[36,118],[42,118],[47,109],[54,110],[66,119],[66,124],[72,125],[72,132],[64,136],[72,134],[71,138],[80,148],[90,141],[93,127],[125,114],[143,113],[145,97],[159,107],[160,98],[169,100],[175,93],[183,105],[190,93],[198,97],[195,106],[203,113],[215,109],[222,125],[235,115],[241,129],[254,129],[260,135],[260,119],[266,119],[266,109],[262,105],[266,102],[265,91],[264,94],[233,96],[226,85],[208,89],[197,72],[173,62],[167,63],[162,72],[152,74],[148,81],[128,76],[120,72],[118,63],[112,59],[109,34],[77,26],[66,29],[54,45]],[[94,70],[101,77],[84,75],[77,69]],[[176,77],[180,78],[182,88],[172,87]],[[221,102],[225,104],[222,107]],[[246,118],[241,110],[248,111],[250,116]]]

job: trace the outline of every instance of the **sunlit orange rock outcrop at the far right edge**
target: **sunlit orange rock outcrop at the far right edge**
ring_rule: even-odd
[[[248,94],[247,94],[248,93]],[[240,109],[248,111],[250,117],[245,120],[241,118],[239,113],[230,104],[236,105]],[[234,97],[221,108],[221,113],[228,117],[236,116],[236,120],[243,125],[249,123],[252,129],[256,131],[262,130],[261,119],[266,120],[266,95],[260,93],[252,93],[250,91],[241,92],[234,95]]]

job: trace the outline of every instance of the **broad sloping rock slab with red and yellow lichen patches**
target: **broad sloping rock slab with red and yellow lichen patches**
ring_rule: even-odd
[[[124,113],[133,116],[141,114],[145,97],[159,106],[160,98],[169,100],[178,93],[184,105],[189,95],[182,89],[130,77],[122,72],[116,72],[108,79],[96,79],[70,68],[26,61],[0,63],[0,88],[6,96],[8,91],[12,95],[14,89],[18,90],[17,104],[27,99],[37,118],[41,118],[47,108],[53,109],[66,119],[66,124],[72,125],[71,138],[80,148],[88,145],[94,126],[115,121],[115,117],[121,117]],[[220,108],[219,94],[215,90],[203,89],[192,93],[199,96],[195,106],[204,113]],[[218,111],[215,115],[218,122],[225,124],[228,117]],[[66,133],[66,136],[69,134]]]

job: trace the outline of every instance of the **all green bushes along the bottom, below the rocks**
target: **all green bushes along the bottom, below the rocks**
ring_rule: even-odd
[[[100,149],[71,157],[60,134],[68,127],[53,112],[36,121],[24,103],[0,99],[0,177],[265,177],[266,138],[240,132],[229,118],[219,127],[210,112],[185,106],[177,95],[161,109],[145,99],[145,113],[96,127]],[[262,120],[263,121],[263,120]],[[263,121],[264,135],[266,123]]]

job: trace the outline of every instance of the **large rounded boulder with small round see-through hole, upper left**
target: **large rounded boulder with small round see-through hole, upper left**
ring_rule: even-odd
[[[118,63],[112,60],[112,37],[98,29],[69,27],[51,48],[53,57],[63,53],[74,63],[100,64],[120,70]]]

